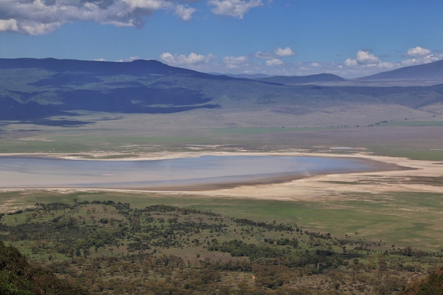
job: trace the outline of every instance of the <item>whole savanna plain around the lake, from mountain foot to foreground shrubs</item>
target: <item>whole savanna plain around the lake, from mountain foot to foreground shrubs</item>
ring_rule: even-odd
[[[408,294],[442,267],[441,115],[314,127],[213,126],[223,114],[198,115],[8,122],[0,153],[334,156],[392,169],[170,191],[2,184],[1,241],[80,286],[73,294]]]

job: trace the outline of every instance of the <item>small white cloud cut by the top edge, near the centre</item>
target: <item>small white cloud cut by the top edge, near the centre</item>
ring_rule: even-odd
[[[251,8],[263,5],[261,0],[211,0],[208,4],[214,6],[212,13],[234,18],[243,18]]]

